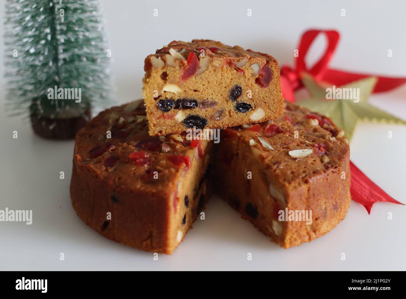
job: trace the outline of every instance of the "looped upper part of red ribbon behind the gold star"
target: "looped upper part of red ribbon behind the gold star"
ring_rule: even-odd
[[[317,61],[312,68],[308,69],[304,62],[304,58],[306,57],[311,44],[320,33],[324,33],[327,37],[327,49],[319,61]],[[339,38],[339,33],[334,30],[308,30],[303,33],[298,46],[299,56],[295,57],[294,69],[290,68],[288,65],[284,65],[281,68],[282,94],[285,100],[295,102],[294,91],[303,87],[301,82],[303,72],[311,74],[315,81],[327,81],[337,86],[366,77],[375,76],[371,74],[355,74],[328,68],[328,63],[331,58],[333,58]],[[378,82],[375,85],[374,93],[386,92],[406,83],[406,78],[376,77],[378,78]]]

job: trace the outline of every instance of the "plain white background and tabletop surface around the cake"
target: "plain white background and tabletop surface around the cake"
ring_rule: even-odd
[[[269,52],[291,64],[300,34],[337,29],[331,66],[406,76],[404,1],[124,1],[104,0],[119,103],[141,97],[144,58],[170,41],[216,39]],[[158,17],[153,17],[153,9]],[[247,17],[252,9],[252,17]],[[346,17],[340,16],[346,9]],[[0,24],[4,0],[0,0]],[[0,45],[3,45],[0,26]],[[319,48],[319,50],[317,50]],[[315,61],[323,39],[312,48]],[[387,50],[393,57],[387,57]],[[4,73],[1,46],[0,73]],[[10,55],[10,53],[9,53]],[[103,238],[76,216],[69,197],[73,141],[35,136],[28,123],[6,118],[0,79],[0,210],[33,210],[32,225],[0,222],[0,270],[406,270],[406,207],[376,203],[368,215],[352,201],[347,217],[326,236],[291,249],[269,242],[226,203],[213,197],[172,255],[143,252]],[[406,86],[370,103],[406,120]],[[18,131],[18,139],[12,132]],[[393,139],[387,132],[393,131]],[[406,203],[406,127],[361,123],[351,159],[398,201]],[[65,171],[65,179],[59,172]],[[393,220],[387,213],[393,213]],[[65,260],[59,260],[60,253]],[[252,261],[247,260],[252,253]],[[346,253],[346,260],[340,259]]]

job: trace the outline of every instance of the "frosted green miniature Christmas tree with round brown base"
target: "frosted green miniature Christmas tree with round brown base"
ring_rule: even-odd
[[[7,1],[5,19],[7,110],[42,137],[73,138],[109,99],[99,1]]]

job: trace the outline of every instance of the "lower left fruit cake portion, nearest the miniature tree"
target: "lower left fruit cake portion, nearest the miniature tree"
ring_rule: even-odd
[[[140,101],[101,112],[75,140],[71,200],[102,236],[172,253],[209,198],[213,142],[151,137]]]

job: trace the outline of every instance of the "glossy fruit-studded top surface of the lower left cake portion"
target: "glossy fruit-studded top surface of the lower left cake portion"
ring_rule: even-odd
[[[186,134],[150,137],[145,107],[136,101],[102,111],[81,129],[76,135],[76,159],[122,185],[169,189],[194,159],[204,158],[207,141],[190,141]]]

